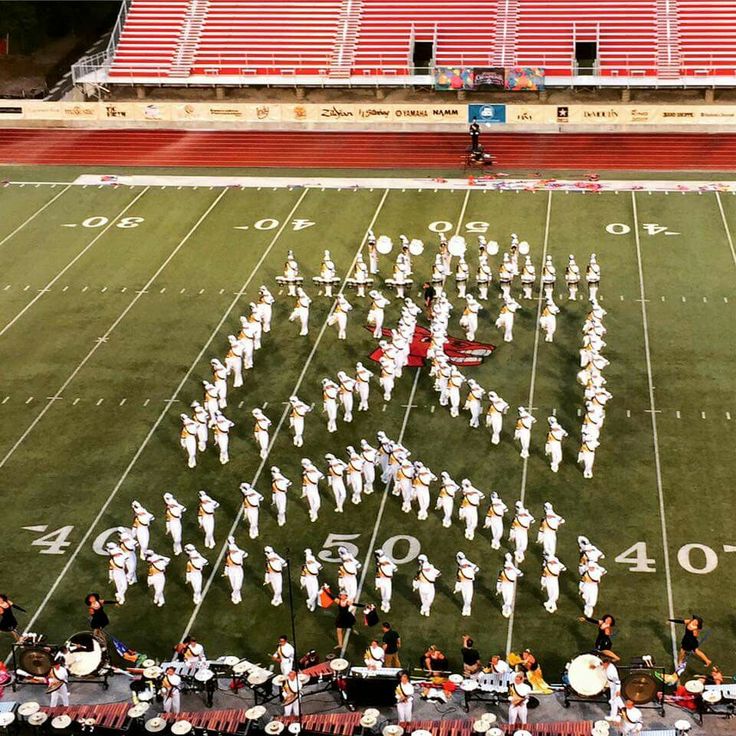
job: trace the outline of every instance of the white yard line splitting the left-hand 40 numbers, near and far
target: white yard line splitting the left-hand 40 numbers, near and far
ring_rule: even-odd
[[[204,356],[205,352],[209,349],[210,345],[212,344],[212,341],[215,339],[215,337],[218,335],[218,333],[222,329],[222,326],[225,324],[225,321],[230,316],[230,313],[233,311],[233,309],[235,308],[236,304],[238,303],[238,301],[243,296],[243,293],[245,292],[245,290],[250,285],[250,282],[253,280],[253,277],[256,275],[256,273],[258,273],[258,270],[260,269],[261,265],[266,260],[268,254],[271,252],[271,250],[273,249],[273,246],[276,244],[276,241],[279,239],[279,237],[283,233],[284,229],[287,227],[287,225],[291,221],[291,218],[294,216],[294,213],[296,212],[296,210],[299,207],[299,205],[302,203],[302,200],[307,195],[307,192],[308,191],[309,191],[308,189],[305,189],[304,192],[302,193],[301,197],[299,197],[299,199],[297,200],[296,204],[292,207],[291,212],[289,213],[288,217],[286,217],[284,219],[283,224],[279,228],[278,232],[274,235],[273,239],[269,243],[269,245],[266,248],[266,250],[261,255],[260,259],[258,260],[258,263],[256,263],[256,265],[253,267],[250,275],[248,276],[247,280],[243,284],[242,288],[235,295],[235,298],[230,302],[227,310],[222,315],[220,321],[217,323],[217,325],[215,326],[215,328],[212,330],[212,333],[210,334],[209,339],[204,344],[204,346],[202,347],[202,349],[199,351],[199,354],[194,359],[194,361],[192,362],[192,364],[189,366],[189,370],[187,370],[186,374],[184,375],[184,377],[179,382],[179,385],[176,387],[176,389],[174,389],[174,393],[171,395],[171,398],[168,401],[165,402],[165,406],[164,406],[163,410],[159,414],[159,416],[156,419],[156,421],[153,423],[153,426],[148,431],[148,434],[143,439],[143,442],[140,444],[140,446],[136,450],[135,455],[133,455],[133,458],[131,459],[131,461],[128,463],[127,467],[123,471],[123,474],[120,476],[120,479],[115,484],[114,488],[112,489],[112,491],[110,492],[109,496],[105,500],[105,503],[103,504],[102,508],[97,513],[97,516],[95,516],[94,520],[92,521],[92,523],[87,528],[87,531],[84,533],[84,536],[79,541],[79,544],[77,544],[77,546],[75,547],[75,549],[72,552],[71,556],[67,560],[66,565],[64,565],[64,567],[62,568],[62,570],[59,573],[58,577],[56,578],[56,580],[54,581],[53,585],[51,586],[51,588],[49,589],[48,593],[46,594],[46,597],[41,602],[41,605],[36,609],[36,612],[33,614],[33,617],[31,618],[31,620],[28,622],[28,625],[26,626],[26,630],[28,630],[28,631],[31,630],[31,628],[33,627],[33,625],[36,623],[36,620],[38,619],[38,617],[41,615],[41,613],[43,612],[43,610],[46,608],[46,605],[48,604],[48,602],[51,600],[51,597],[56,592],[56,589],[59,587],[59,584],[64,579],[64,577],[66,576],[66,574],[69,572],[69,569],[74,564],[74,561],[76,560],[76,558],[79,555],[79,553],[82,551],[82,549],[84,548],[84,546],[87,544],[87,541],[90,538],[90,536],[92,535],[92,532],[94,531],[95,527],[99,524],[100,520],[102,519],[103,515],[105,514],[105,512],[109,508],[109,506],[112,503],[113,499],[117,496],[118,491],[122,487],[123,483],[125,483],[128,475],[130,474],[130,471],[133,469],[133,466],[138,462],[138,458],[143,454],[143,450],[146,448],[146,446],[150,442],[151,437],[153,437],[155,431],[158,429],[159,425],[163,421],[163,419],[166,416],[167,412],[171,408],[171,405],[176,401],[176,398],[179,395],[179,392],[181,391],[181,389],[184,387],[184,384],[189,380],[189,377],[191,376],[192,372],[194,371],[194,369],[199,364],[199,361],[202,359],[202,357]],[[214,207],[214,205],[216,205],[220,201],[220,199],[222,198],[222,195],[223,194],[225,194],[225,192],[223,192],[215,200],[215,202],[213,204],[213,207]],[[205,216],[206,216],[206,214],[208,214],[212,210],[213,207],[210,207],[210,210],[208,210],[207,213],[205,213]]]

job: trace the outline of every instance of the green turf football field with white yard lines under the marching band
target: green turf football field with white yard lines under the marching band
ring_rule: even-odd
[[[37,178],[44,179],[43,170]],[[171,555],[164,534],[162,495],[187,506],[184,541],[209,561],[203,602],[194,606],[184,582],[184,557],[172,558],[163,608],[152,603],[143,581],[123,607],[108,609],[109,633],[128,646],[165,658],[187,631],[210,656],[237,654],[265,661],[279,634],[290,632],[288,606],[270,606],[263,587],[264,545],[292,560],[296,628],[301,652],[332,649],[333,610],[309,613],[298,587],[304,549],[323,561],[322,582],[337,588],[336,549],[352,545],[363,563],[362,602],[375,602],[373,552],[381,547],[399,564],[394,600],[386,618],[399,630],[405,665],[418,664],[427,645],[437,644],[457,671],[460,637],[471,634],[484,657],[530,647],[547,679],[558,681],[564,663],[588,650],[592,626],[580,624],[577,544],[583,534],[605,553],[596,614],[618,621],[614,648],[627,661],[652,654],[670,667],[682,634],[667,619],[697,613],[705,619],[702,648],[728,674],[736,669],[731,641],[736,633],[736,196],[672,191],[567,193],[487,191],[458,186],[382,186],[336,189],[321,186],[83,186],[8,183],[0,187],[0,489],[3,543],[0,590],[27,614],[21,628],[61,642],[86,628],[84,596],[99,591],[114,598],[102,546],[115,528],[132,523],[131,501],[156,519],[151,546]],[[384,182],[385,184],[385,182]],[[408,369],[384,403],[374,380],[370,411],[338,422],[329,434],[321,415],[322,378],[369,365],[376,342],[364,329],[368,300],[348,292],[354,310],[348,339],[338,341],[326,324],[333,301],[318,295],[311,277],[329,249],[338,274],[352,271],[366,232],[400,233],[425,243],[414,259],[415,284],[428,278],[438,234],[468,240],[471,293],[477,264],[477,234],[495,239],[501,252],[510,234],[531,244],[541,273],[546,255],[558,272],[561,308],[554,343],[544,342],[539,302],[520,299],[512,343],[494,326],[500,307],[495,280],[500,254],[491,259],[494,285],[483,305],[476,339],[496,345],[478,367],[463,369],[512,409],[502,442],[490,444],[485,427],[471,429],[468,414],[451,418],[439,406],[428,367]],[[292,249],[313,298],[310,332],[298,337],[288,321],[292,299],[275,277]],[[591,252],[602,268],[608,405],[595,476],[584,480],[576,465],[583,390],[575,380],[587,302],[563,294],[568,254],[584,269]],[[381,258],[379,281],[390,276],[396,246]],[[256,353],[245,386],[230,388],[227,416],[235,422],[228,465],[214,448],[190,470],[179,446],[179,414],[202,399],[209,360],[224,359],[227,335],[267,285],[274,296],[273,328]],[[585,293],[585,289],[582,290]],[[398,319],[395,296],[386,326]],[[535,288],[535,297],[538,289]],[[454,283],[450,334],[463,337],[462,309]],[[413,296],[418,301],[418,289]],[[420,318],[426,326],[426,320]],[[375,364],[374,364],[375,365]],[[370,365],[369,365],[370,367]],[[374,369],[377,374],[377,366]],[[315,404],[305,444],[293,447],[289,396]],[[464,392],[463,392],[464,393]],[[532,407],[537,424],[528,461],[513,442],[516,407]],[[263,408],[273,422],[270,455],[261,461],[253,441],[251,410]],[[558,474],[544,455],[546,417],[555,414],[570,437]],[[439,512],[419,521],[377,483],[377,491],[345,513],[333,511],[322,487],[319,520],[310,523],[300,499],[302,457],[323,471],[324,455],[345,457],[348,445],[375,440],[378,430],[401,438],[414,459],[436,475],[448,471],[492,490],[510,509],[522,499],[537,519],[551,501],[566,519],[558,556],[568,571],[561,579],[556,614],[543,608],[541,548],[530,534],[530,552],[510,619],[501,615],[495,583],[509,547],[493,551],[487,530],[468,542],[457,518],[443,529]],[[279,528],[270,505],[269,467],[278,465],[293,482],[287,524]],[[239,518],[243,481],[265,496],[260,536],[248,538]],[[220,503],[215,550],[205,550],[197,527],[197,494],[207,490]],[[432,507],[437,484],[431,489]],[[330,494],[330,495],[328,495]],[[456,508],[457,508],[456,504]],[[226,537],[233,529],[247,550],[243,602],[230,602],[223,578]],[[453,594],[455,554],[463,551],[481,568],[473,615],[462,618]],[[430,618],[419,616],[412,591],[420,552],[442,571]],[[286,596],[285,596],[286,598]],[[378,632],[376,632],[378,634]],[[357,663],[372,634],[362,622],[347,657]],[[9,652],[0,640],[0,655]],[[690,662],[694,671],[702,663]]]

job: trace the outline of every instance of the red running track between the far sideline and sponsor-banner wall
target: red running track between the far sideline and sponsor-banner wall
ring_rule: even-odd
[[[736,135],[487,134],[503,169],[736,168]],[[290,168],[457,168],[458,133],[0,128],[0,163]]]

